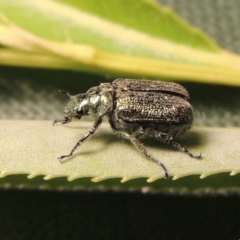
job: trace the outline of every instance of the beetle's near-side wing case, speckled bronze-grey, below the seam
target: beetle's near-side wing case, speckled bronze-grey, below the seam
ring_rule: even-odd
[[[116,94],[118,118],[127,122],[186,123],[193,119],[190,103],[165,93]]]

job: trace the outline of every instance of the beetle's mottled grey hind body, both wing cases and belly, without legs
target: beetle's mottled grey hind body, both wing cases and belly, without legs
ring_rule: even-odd
[[[187,91],[179,84],[117,79],[112,85],[116,107],[110,114],[110,123],[114,129],[117,121],[124,126],[122,130],[133,127],[129,133],[153,133],[152,137],[156,137],[152,130],[157,130],[176,137],[190,128],[193,111]]]

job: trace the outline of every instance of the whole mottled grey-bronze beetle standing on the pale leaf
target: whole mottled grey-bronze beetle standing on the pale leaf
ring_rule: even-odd
[[[68,155],[59,157],[60,161],[73,155],[74,151],[97,130],[103,116],[107,116],[114,132],[128,139],[147,158],[160,165],[168,177],[164,164],[152,157],[138,140],[142,136],[154,137],[164,143],[193,155],[185,147],[173,141],[191,127],[193,110],[188,102],[185,88],[177,83],[118,78],[112,83],[101,83],[86,93],[69,96],[70,102],[65,108],[63,120],[53,124],[68,123],[73,117],[81,119],[84,115],[93,115],[96,119],[92,128],[81,138]]]

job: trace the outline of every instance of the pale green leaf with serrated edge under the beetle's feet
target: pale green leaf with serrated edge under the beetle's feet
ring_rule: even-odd
[[[70,181],[91,178],[94,182],[110,178],[120,178],[121,182],[147,178],[153,182],[164,177],[161,167],[147,160],[130,143],[115,137],[106,123],[73,157],[60,164],[57,157],[69,153],[91,125],[72,122],[53,127],[49,121],[0,121],[1,177],[27,174],[28,178],[43,175],[45,180],[67,177]],[[192,159],[159,141],[144,143],[176,180],[190,175],[205,178],[223,172],[237,174],[240,171],[237,139],[238,128],[199,127],[177,140],[196,154],[202,152],[202,160]],[[195,181],[197,184],[199,180]]]

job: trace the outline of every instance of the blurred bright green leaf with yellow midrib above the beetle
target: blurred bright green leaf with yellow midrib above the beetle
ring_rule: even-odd
[[[240,83],[239,56],[151,0],[2,0],[0,12],[0,64]]]

